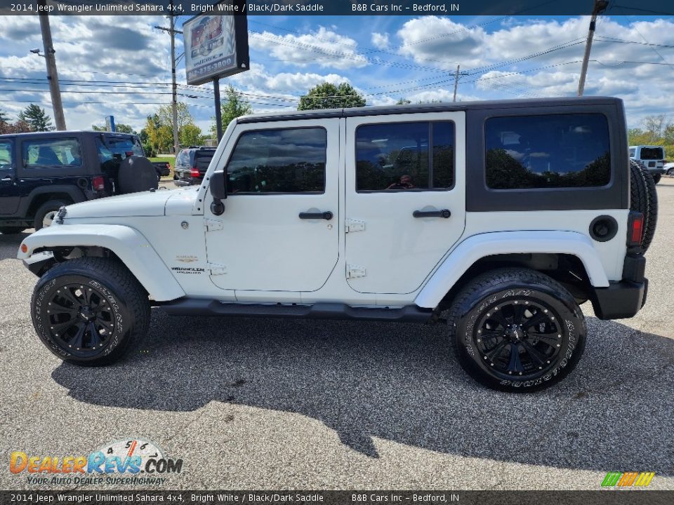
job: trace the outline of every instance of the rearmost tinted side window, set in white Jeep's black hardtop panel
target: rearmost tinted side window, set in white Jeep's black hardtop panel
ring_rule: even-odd
[[[602,114],[491,118],[485,140],[492,189],[596,187],[611,180]]]

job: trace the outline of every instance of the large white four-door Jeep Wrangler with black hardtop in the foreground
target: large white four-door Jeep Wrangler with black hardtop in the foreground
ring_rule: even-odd
[[[440,319],[482,384],[550,386],[583,353],[579,304],[646,299],[657,204],[625,125],[609,97],[241,117],[199,187],[77,203],[25,238],[35,330],[101,365],[151,307]]]

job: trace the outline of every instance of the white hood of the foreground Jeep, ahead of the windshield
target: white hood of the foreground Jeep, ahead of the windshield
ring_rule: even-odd
[[[166,201],[183,191],[143,191],[108,196],[68,206],[65,219],[164,215]]]

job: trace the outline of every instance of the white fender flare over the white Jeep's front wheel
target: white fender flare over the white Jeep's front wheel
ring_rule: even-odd
[[[27,247],[25,253],[23,246]],[[94,246],[110,249],[157,302],[185,296],[157,251],[140,231],[119,224],[53,224],[27,236],[18,259],[28,260],[36,250],[56,247]]]

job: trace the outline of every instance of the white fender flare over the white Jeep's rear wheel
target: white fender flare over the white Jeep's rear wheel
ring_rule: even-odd
[[[498,254],[552,253],[579,258],[590,284],[607,288],[609,280],[602,262],[587,236],[576,231],[496,231],[466,238],[430,276],[414,303],[435,309],[465,271],[484,257]]]

